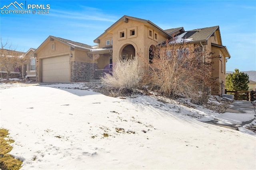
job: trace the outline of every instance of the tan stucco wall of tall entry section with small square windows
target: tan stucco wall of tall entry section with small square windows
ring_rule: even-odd
[[[131,30],[135,30],[135,35],[130,35]],[[152,31],[153,38],[148,37],[149,29]],[[120,31],[124,31],[125,36],[120,38]],[[154,33],[157,34],[157,39],[154,39]],[[112,34],[112,36],[111,36]],[[142,61],[148,60],[149,48],[151,45],[157,45],[165,41],[168,37],[154,29],[150,24],[136,21],[128,20],[128,23],[120,21],[115,27],[110,30],[110,33],[102,36],[100,39],[100,47],[106,46],[106,39],[113,39],[113,67],[118,58],[122,55],[122,50],[126,45],[132,45],[135,49],[135,53],[143,53],[143,59],[139,59],[140,64],[143,64]],[[130,54],[128,54],[130,55]]]

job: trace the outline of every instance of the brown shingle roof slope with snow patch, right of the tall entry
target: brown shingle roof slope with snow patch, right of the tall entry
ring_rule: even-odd
[[[187,33],[182,38],[183,39],[192,39],[192,41],[207,40],[214,33],[214,31],[216,31],[218,28],[219,28],[219,26],[193,29],[190,31],[186,31]],[[177,35],[180,35],[182,33],[184,33],[184,32],[181,32]]]

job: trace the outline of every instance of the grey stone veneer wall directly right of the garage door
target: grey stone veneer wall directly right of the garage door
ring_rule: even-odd
[[[71,81],[88,81],[95,77],[95,64],[72,61],[71,62]]]

